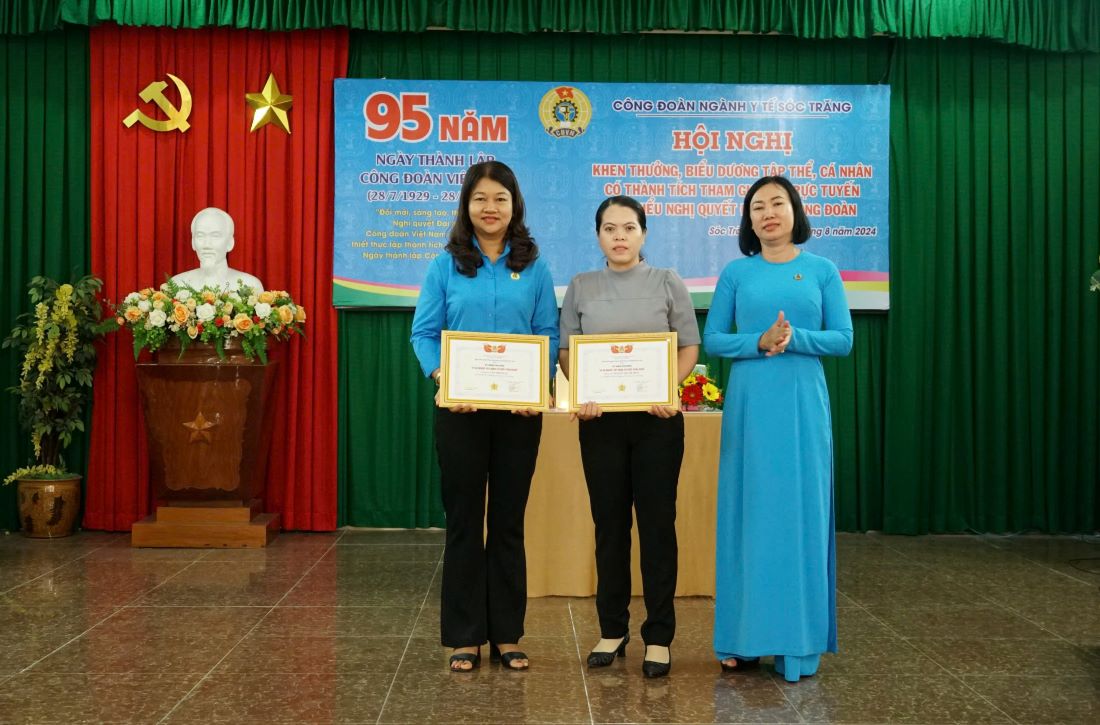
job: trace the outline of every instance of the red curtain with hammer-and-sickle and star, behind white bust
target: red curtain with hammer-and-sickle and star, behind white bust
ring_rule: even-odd
[[[265,33],[100,25],[91,30],[91,264],[113,300],[197,266],[190,220],[204,207],[235,222],[230,265],[306,306],[306,339],[273,345],[280,385],[265,506],[288,529],[337,521],[337,315],[332,308],[332,80],[348,67],[345,30]],[[274,73],[294,99],[287,135],[252,133],[245,94]],[[139,94],[172,74],[190,90],[185,132],[125,128]],[[112,336],[96,372],[84,525],[129,530],[150,513],[144,424],[132,338]]]

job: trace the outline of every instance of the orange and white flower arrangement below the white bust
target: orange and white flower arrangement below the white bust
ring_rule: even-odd
[[[127,295],[116,308],[119,327],[134,336],[134,359],[142,350],[155,352],[168,340],[180,351],[191,343],[212,344],[226,358],[226,343],[239,340],[249,360],[267,363],[267,339],[286,340],[302,334],[306,308],[282,289],[256,293],[235,289],[194,289],[170,279],[158,289],[146,287]]]

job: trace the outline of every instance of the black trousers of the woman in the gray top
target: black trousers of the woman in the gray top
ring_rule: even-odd
[[[596,525],[596,613],[601,636],[627,634],[630,622],[630,508],[638,516],[648,645],[672,642],[676,616],[676,483],[684,417],[610,413],[582,420],[581,461]]]

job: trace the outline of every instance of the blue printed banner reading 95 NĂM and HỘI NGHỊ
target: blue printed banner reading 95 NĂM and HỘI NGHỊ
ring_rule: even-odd
[[[333,304],[416,305],[465,169],[516,172],[559,299],[604,264],[595,210],[645,205],[645,254],[696,307],[741,255],[741,201],[782,174],[840,270],[853,309],[889,308],[889,86],[338,79]]]

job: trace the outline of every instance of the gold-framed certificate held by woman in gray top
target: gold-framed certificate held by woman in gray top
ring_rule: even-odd
[[[574,334],[569,339],[569,409],[598,403],[607,411],[680,408],[676,333]]]

